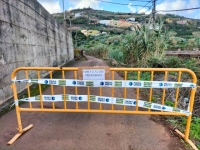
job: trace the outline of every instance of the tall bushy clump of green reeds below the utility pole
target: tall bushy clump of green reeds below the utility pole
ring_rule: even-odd
[[[152,56],[162,56],[167,48],[169,36],[162,33],[162,24],[158,31],[150,30],[147,26],[136,29],[123,38],[123,61],[126,64],[141,66]]]

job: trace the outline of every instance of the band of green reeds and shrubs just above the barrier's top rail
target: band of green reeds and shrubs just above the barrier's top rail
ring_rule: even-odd
[[[114,59],[118,65],[123,63],[127,67],[171,67],[199,71],[200,64],[195,58],[165,57],[164,52],[171,45],[171,32],[162,30],[162,26],[160,23],[159,30],[142,26],[120,35],[112,33],[88,37],[78,31],[73,34],[74,45],[78,49],[84,49],[88,55]]]

